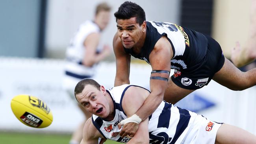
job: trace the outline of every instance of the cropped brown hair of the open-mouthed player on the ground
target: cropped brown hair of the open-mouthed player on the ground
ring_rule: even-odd
[[[100,84],[98,84],[95,80],[83,79],[76,84],[75,91],[74,91],[75,97],[76,97],[76,94],[80,94],[83,91],[86,85],[92,85],[96,87],[98,90],[100,90]]]

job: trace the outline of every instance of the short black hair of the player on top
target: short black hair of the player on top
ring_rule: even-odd
[[[117,19],[130,19],[132,17],[136,17],[136,22],[141,26],[143,22],[146,20],[145,11],[141,6],[135,4],[134,2],[124,2],[118,8],[118,11],[115,12],[115,21]]]

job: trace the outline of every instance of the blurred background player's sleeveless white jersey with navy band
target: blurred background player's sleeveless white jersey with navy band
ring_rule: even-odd
[[[87,67],[82,64],[86,48],[83,45],[86,37],[91,33],[100,33],[100,28],[94,22],[88,20],[80,25],[78,31],[71,39],[66,52],[66,75],[78,79],[90,78],[95,73],[95,66]],[[100,51],[97,48],[97,51]]]

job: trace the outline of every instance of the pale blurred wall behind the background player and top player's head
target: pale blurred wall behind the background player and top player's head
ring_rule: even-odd
[[[69,39],[79,24],[93,19],[95,6],[102,0],[49,0],[46,22],[46,51],[54,55],[63,52]],[[112,38],[117,28],[114,13],[125,0],[108,0],[111,9],[111,20],[103,32],[102,42],[112,46]],[[179,24],[179,0],[132,0],[139,4],[146,13],[147,20],[173,22]],[[63,53],[60,53],[63,56]],[[57,56],[58,57],[58,56]]]

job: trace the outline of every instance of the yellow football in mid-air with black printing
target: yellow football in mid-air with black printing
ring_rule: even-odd
[[[43,128],[52,124],[52,111],[35,96],[20,94],[11,100],[11,110],[23,124]]]

